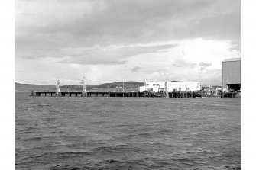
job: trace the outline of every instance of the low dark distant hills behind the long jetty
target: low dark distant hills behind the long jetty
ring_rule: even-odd
[[[117,86],[122,86],[123,82],[104,83],[100,85],[86,85],[89,91],[116,91]],[[124,82],[125,88],[131,91],[138,90],[138,87],[144,85],[143,82]],[[82,85],[60,85],[60,91],[82,91]],[[31,85],[15,82],[15,91],[55,91],[56,85]]]

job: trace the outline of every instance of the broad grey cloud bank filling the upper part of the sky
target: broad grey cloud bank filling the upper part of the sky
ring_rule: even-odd
[[[17,57],[66,47],[164,42],[196,37],[241,43],[240,1],[45,1],[15,3]],[[76,12],[74,12],[76,11]]]

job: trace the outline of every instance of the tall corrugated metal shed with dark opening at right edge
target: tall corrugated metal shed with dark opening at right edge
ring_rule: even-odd
[[[241,58],[225,59],[222,62],[223,90],[241,90]]]

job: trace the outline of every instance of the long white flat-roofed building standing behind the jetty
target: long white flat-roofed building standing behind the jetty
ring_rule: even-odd
[[[200,82],[145,82],[144,86],[140,87],[142,91],[200,91]]]

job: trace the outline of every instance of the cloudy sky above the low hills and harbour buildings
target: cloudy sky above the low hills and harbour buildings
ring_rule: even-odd
[[[17,0],[15,82],[199,81],[241,57],[241,0]]]

